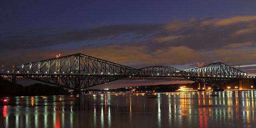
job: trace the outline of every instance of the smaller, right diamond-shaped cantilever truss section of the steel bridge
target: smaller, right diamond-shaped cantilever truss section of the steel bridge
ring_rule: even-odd
[[[214,88],[223,88],[245,79],[246,73],[221,62],[184,70],[184,77]]]

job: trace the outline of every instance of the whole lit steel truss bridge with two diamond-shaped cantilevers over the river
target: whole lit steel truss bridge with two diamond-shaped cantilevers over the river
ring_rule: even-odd
[[[247,74],[221,62],[186,70],[168,66],[131,68],[84,54],[72,54],[47,60],[14,65],[5,78],[37,80],[70,89],[84,89],[115,80],[192,80],[213,88],[223,88]]]

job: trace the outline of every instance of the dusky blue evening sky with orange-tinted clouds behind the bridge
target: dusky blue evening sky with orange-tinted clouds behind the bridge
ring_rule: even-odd
[[[6,71],[12,64],[82,53],[133,68],[184,70],[223,62],[255,76],[255,35],[255,0],[0,1],[0,61]]]

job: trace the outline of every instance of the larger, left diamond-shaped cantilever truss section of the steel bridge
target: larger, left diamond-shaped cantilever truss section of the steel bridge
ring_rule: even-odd
[[[32,80],[80,89],[134,75],[136,69],[78,53],[20,64],[15,73]]]

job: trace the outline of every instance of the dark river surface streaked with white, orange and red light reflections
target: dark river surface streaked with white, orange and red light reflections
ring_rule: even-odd
[[[0,128],[247,128],[256,91],[7,97]],[[1,101],[2,102],[2,101]]]

